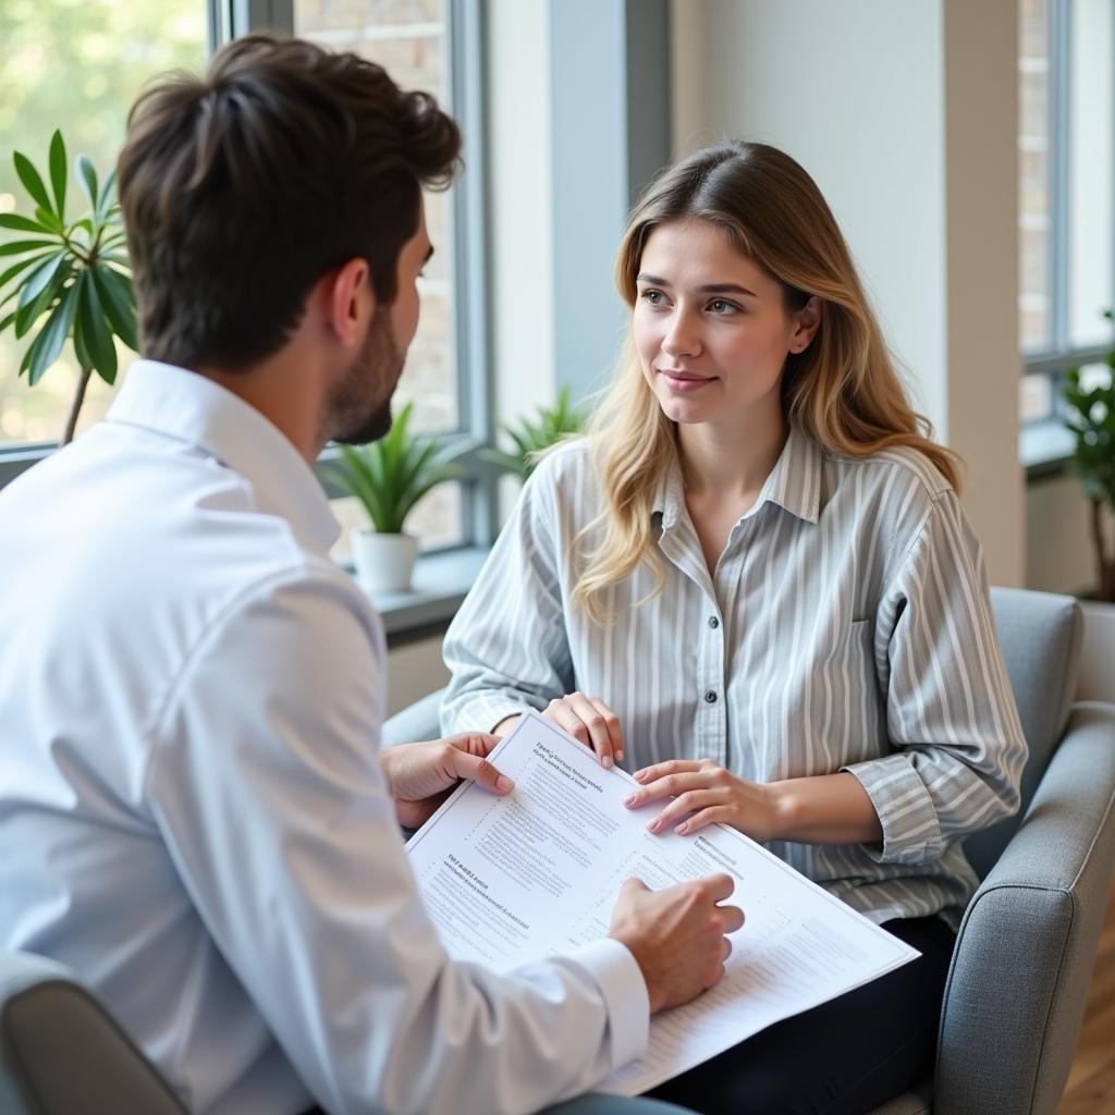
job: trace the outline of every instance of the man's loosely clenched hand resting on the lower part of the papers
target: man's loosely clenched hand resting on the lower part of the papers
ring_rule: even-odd
[[[738,906],[718,905],[729,898],[730,875],[648,890],[629,879],[612,911],[609,935],[626,944],[642,970],[651,1014],[679,1007],[724,976],[731,954],[727,933],[744,923]]]

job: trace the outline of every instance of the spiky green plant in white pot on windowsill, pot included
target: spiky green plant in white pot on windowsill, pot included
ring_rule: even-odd
[[[403,530],[407,516],[430,488],[459,475],[438,438],[410,433],[414,404],[395,416],[386,437],[352,448],[340,446],[343,467],[333,478],[355,495],[371,521],[352,529],[352,563],[368,592],[406,592],[410,588],[418,540]]]

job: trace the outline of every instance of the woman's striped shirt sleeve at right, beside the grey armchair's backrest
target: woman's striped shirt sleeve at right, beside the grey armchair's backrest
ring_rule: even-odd
[[[927,863],[1018,809],[1026,762],[982,552],[951,491],[928,506],[884,586],[876,670],[893,752],[843,769],[882,823],[881,863]]]

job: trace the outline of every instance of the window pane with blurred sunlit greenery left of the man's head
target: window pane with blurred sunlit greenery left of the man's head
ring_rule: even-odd
[[[205,0],[0,3],[0,212],[30,212],[11,153],[20,151],[45,168],[55,128],[62,129],[71,162],[85,153],[104,177],[116,162],[128,109],[143,84],[163,70],[201,69],[205,12]],[[72,181],[67,196],[72,219],[83,197]],[[61,437],[77,384],[77,361],[67,346],[61,361],[28,387],[16,377],[23,350],[25,341],[10,330],[0,337],[0,444]],[[118,355],[123,371],[134,355],[124,348]],[[79,430],[104,416],[112,394],[94,378]]]

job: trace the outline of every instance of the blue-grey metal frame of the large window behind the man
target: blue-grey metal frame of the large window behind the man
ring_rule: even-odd
[[[444,442],[459,454],[462,475],[455,483],[462,488],[462,537],[456,546],[446,547],[450,550],[491,545],[498,531],[496,488],[501,474],[481,455],[492,444],[495,426],[487,303],[485,8],[473,0],[446,0],[452,109],[468,153],[468,171],[458,177],[453,194],[453,323],[460,428],[447,434]],[[252,30],[293,33],[294,0],[206,0],[206,18],[212,55],[221,43]],[[57,442],[0,447],[0,488],[57,448]],[[330,497],[347,494],[330,476],[339,457],[330,446],[316,464],[317,476]]]

